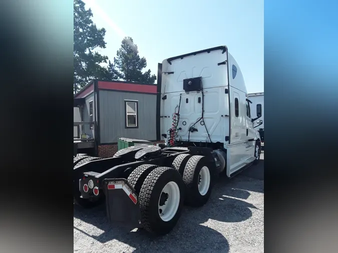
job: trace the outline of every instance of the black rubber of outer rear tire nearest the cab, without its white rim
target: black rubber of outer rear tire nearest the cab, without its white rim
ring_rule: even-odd
[[[211,194],[211,189],[213,186],[214,174],[210,170],[208,158],[202,155],[193,155],[188,160],[184,168],[183,181],[186,185],[187,195],[186,195],[186,204],[190,206],[202,206],[204,205]],[[202,167],[208,167],[210,173],[210,184],[208,191],[201,195],[198,190],[199,184],[199,173]]]

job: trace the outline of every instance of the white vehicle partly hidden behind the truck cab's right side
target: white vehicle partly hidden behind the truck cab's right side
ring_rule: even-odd
[[[248,96],[252,101],[252,115],[261,114],[261,117],[254,121],[254,126],[258,127],[259,125],[258,132],[260,134],[261,141],[264,142],[264,92],[249,93]]]

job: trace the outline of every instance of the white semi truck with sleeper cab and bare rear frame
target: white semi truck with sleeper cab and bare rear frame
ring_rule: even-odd
[[[161,138],[114,157],[74,157],[74,199],[105,199],[110,221],[165,234],[183,204],[204,205],[219,173],[233,176],[259,162],[242,72],[224,45],[163,60],[158,82]]]

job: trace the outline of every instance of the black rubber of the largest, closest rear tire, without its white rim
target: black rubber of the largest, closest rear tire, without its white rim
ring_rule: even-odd
[[[180,190],[180,200],[173,218],[164,221],[159,213],[159,199],[164,186],[171,181],[178,185]],[[182,177],[174,168],[157,167],[148,174],[142,184],[139,195],[141,222],[145,230],[157,235],[163,235],[174,228],[182,213],[184,188]]]

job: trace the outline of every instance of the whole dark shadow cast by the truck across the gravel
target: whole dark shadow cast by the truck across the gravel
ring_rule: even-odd
[[[91,228],[85,225],[86,230],[83,230],[81,223],[74,228],[101,243],[116,239],[134,247],[134,252],[228,252],[227,239],[214,226],[226,227],[229,222],[241,222],[252,216],[250,208],[256,207],[245,200],[250,196],[248,190],[264,191],[264,181],[257,180],[264,172],[263,161],[247,168],[251,171],[244,170],[234,178],[218,178],[209,201],[199,208],[185,206],[176,227],[167,235],[157,237],[143,229],[130,231],[114,226],[108,222],[104,204],[92,209],[74,206],[74,217],[101,229],[101,234],[89,234],[87,229]],[[224,223],[208,222],[213,228],[202,224],[209,219]]]

